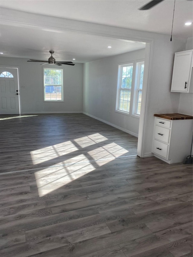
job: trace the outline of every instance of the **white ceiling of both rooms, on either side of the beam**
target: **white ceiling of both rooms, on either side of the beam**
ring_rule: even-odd
[[[1,0],[0,7],[134,30],[171,34],[174,0],[165,0],[147,11],[140,11],[149,0]],[[11,11],[11,10],[10,10]],[[1,11],[3,13],[3,11]],[[52,17],[53,18],[52,18]],[[176,0],[173,36],[191,37],[193,1]],[[49,58],[54,50],[57,61],[87,62],[145,47],[144,43],[80,33],[34,30],[1,24],[0,52],[5,57]],[[170,39],[170,36],[169,36]],[[112,48],[108,49],[107,46]]]

